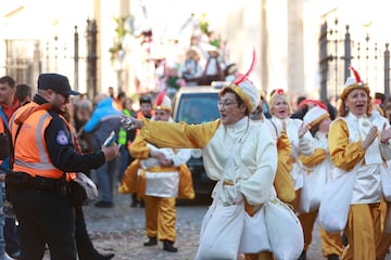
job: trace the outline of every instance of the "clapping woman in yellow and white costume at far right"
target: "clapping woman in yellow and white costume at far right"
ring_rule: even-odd
[[[391,129],[381,117],[373,115],[369,87],[351,69],[354,77],[346,79],[340,94],[339,118],[329,131],[330,156],[336,166],[332,176],[356,174],[344,229],[349,245],[342,259],[380,259],[377,258],[382,245],[380,166],[390,159]]]

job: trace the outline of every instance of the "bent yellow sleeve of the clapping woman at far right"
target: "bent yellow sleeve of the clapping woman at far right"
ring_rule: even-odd
[[[349,142],[349,129],[343,119],[331,123],[328,140],[331,161],[345,171],[352,170],[365,155],[362,141]]]

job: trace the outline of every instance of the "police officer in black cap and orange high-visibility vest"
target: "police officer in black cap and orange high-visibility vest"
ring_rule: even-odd
[[[119,145],[93,154],[75,151],[61,107],[77,94],[65,76],[41,74],[33,102],[10,120],[15,161],[7,183],[20,223],[22,260],[42,259],[46,244],[51,259],[76,260],[74,205],[65,172],[96,169],[118,153]]]

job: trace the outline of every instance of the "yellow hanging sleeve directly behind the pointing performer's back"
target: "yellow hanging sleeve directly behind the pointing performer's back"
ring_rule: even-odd
[[[291,156],[291,143],[285,131],[281,132],[281,135],[277,140],[277,152],[278,152],[278,162],[276,177],[274,180],[274,186],[277,193],[277,197],[283,203],[291,203],[295,197],[294,183],[290,171],[292,165],[289,164]]]

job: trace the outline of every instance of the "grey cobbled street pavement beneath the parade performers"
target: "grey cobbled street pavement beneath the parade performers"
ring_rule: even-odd
[[[164,251],[162,243],[144,247],[144,210],[130,207],[130,195],[115,195],[114,208],[85,206],[88,232],[100,252],[114,252],[115,260],[192,260],[194,259],[201,221],[207,210],[207,202],[177,206],[178,252]],[[229,245],[227,245],[229,246]],[[46,256],[45,260],[50,258]],[[313,243],[307,251],[307,260],[321,260],[318,225],[316,223]],[[387,260],[391,260],[388,255]]]

